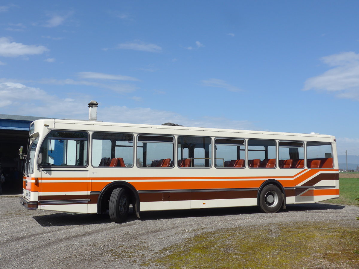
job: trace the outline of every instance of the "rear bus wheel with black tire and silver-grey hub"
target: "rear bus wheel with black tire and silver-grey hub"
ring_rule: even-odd
[[[265,186],[259,197],[259,207],[263,213],[275,213],[283,205],[282,192],[276,185]]]

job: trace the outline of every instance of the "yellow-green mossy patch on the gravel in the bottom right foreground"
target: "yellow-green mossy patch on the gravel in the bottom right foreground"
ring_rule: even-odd
[[[299,222],[206,232],[160,251],[163,258],[143,265],[186,269],[359,268],[359,231],[355,225]]]

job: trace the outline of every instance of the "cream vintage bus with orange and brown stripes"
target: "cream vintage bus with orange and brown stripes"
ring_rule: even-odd
[[[30,127],[28,209],[109,212],[287,204],[339,197],[334,136],[39,119]]]

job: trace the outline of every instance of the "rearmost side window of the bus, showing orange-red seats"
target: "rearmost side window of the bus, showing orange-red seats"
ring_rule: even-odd
[[[333,168],[333,153],[330,143],[307,142],[308,168]]]

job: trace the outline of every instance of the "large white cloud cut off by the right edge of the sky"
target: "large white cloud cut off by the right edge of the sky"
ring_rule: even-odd
[[[341,52],[321,61],[334,68],[306,80],[303,90],[335,92],[339,98],[359,101],[359,54]]]

